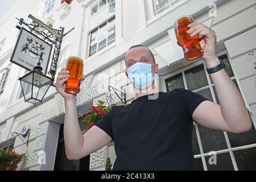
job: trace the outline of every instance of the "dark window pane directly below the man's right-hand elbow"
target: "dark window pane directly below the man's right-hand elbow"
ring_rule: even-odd
[[[229,142],[232,147],[245,146],[247,144],[256,143],[256,130],[254,126],[251,127],[251,129],[245,133],[228,133],[228,136]]]

